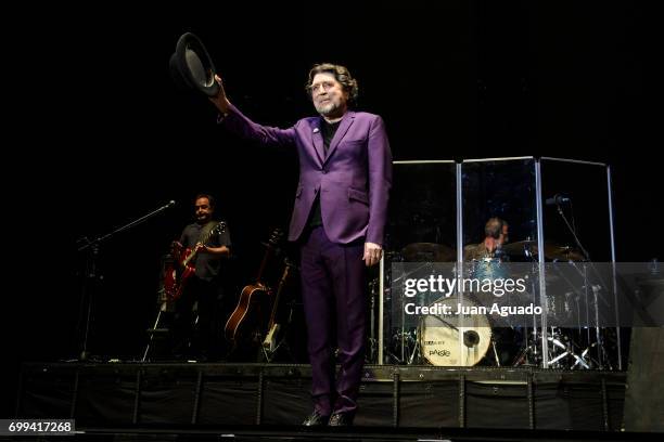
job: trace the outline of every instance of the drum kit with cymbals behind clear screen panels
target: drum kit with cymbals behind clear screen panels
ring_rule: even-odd
[[[538,247],[533,240],[521,240],[502,245],[498,258],[486,258],[464,263],[464,275],[476,278],[512,277],[508,262],[527,262],[533,269],[526,280],[531,289],[524,297],[534,297],[537,278]],[[554,243],[545,243],[544,256],[548,262],[580,262],[584,256],[576,249]],[[414,243],[392,256],[405,262],[456,262],[456,250],[434,243]],[[546,284],[557,281],[548,275]],[[557,291],[558,294],[558,291]],[[562,295],[547,296],[546,311],[560,316],[571,315],[578,302],[573,290]],[[482,304],[473,292],[442,297],[431,303],[447,311],[473,309]],[[545,366],[559,369],[588,369],[602,367],[602,349],[598,336],[564,327],[547,327],[547,362],[544,364],[541,326],[534,317],[528,325],[497,322],[488,315],[423,314],[417,325],[393,327],[387,355],[393,363],[429,364],[436,366]],[[580,327],[579,327],[580,328]]]

